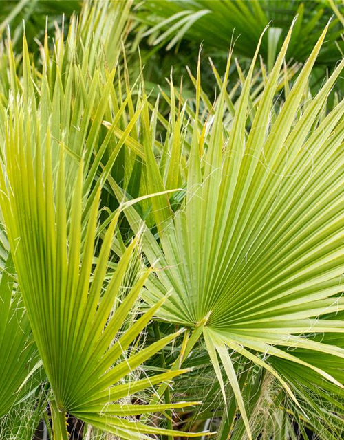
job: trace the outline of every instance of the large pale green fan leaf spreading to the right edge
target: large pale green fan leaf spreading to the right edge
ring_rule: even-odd
[[[171,214],[166,197],[152,199],[160,244],[148,228],[143,239],[149,261],[164,268],[147,282],[148,302],[155,303],[171,292],[158,312],[161,318],[189,327],[206,322],[203,334],[208,353],[222,383],[221,359],[248,432],[228,349],[268,369],[292,399],[291,389],[266,362],[267,357],[288,362],[290,371],[296,371],[298,365],[307,366],[309,378],[319,375],[337,387],[343,382],[340,373],[330,369],[331,357],[344,357],[343,348],[337,346],[336,338],[334,343],[331,339],[321,343],[312,337],[314,333],[343,333],[343,322],[330,314],[344,306],[340,295],[344,102],[324,120],[320,118],[343,61],[304,111],[299,108],[325,33],[280,113],[271,118],[290,30],[249,134],[246,118],[258,50],[229,131],[222,121],[227,70],[211,135],[205,141],[206,127],[200,136],[200,122],[196,119],[194,123],[182,206]],[[200,76],[196,117],[199,100]],[[172,155],[171,160],[174,158]],[[148,147],[146,160],[151,192],[163,190],[163,179]],[[122,197],[118,188],[117,192]],[[127,217],[136,228],[138,214],[128,210]],[[295,347],[305,354],[290,351]],[[312,353],[319,351],[327,358],[324,355],[321,363],[312,362]]]

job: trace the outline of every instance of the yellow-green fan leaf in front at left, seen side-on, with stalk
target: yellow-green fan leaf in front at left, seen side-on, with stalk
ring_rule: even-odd
[[[43,139],[37,137],[24,114],[21,105],[14,106],[8,118],[0,204],[34,339],[54,393],[51,406],[56,438],[67,438],[65,412],[123,439],[164,433],[127,416],[193,403],[139,407],[131,406],[129,396],[183,371],[167,371],[136,384],[125,383],[125,377],[180,332],[133,355],[127,353],[164,299],[127,331],[118,333],[151,270],[138,278],[114,310],[136,240],[116,263],[115,272],[109,272],[118,211],[94,263],[100,190],[94,197],[91,192],[88,219],[83,221],[88,200],[83,197],[82,164],[67,192],[63,149],[53,159],[50,129]],[[127,404],[118,406],[116,401],[123,397]]]

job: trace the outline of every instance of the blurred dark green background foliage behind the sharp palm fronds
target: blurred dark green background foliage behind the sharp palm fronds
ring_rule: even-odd
[[[342,7],[340,0],[336,0],[336,4],[338,8]],[[201,44],[204,56],[213,58],[221,70],[224,70],[228,48],[233,45],[234,56],[246,68],[268,23],[270,27],[261,41],[260,54],[269,71],[296,16],[298,20],[286,61],[303,63],[334,15],[330,6],[327,0],[147,0],[136,1],[134,10],[138,21],[136,32],[144,45],[148,45],[144,53],[151,68],[149,73],[161,83],[161,66],[164,68],[165,58],[180,75],[184,73],[186,64],[196,65]],[[310,78],[315,88],[320,86],[326,72],[332,72],[338,61],[340,50],[344,47],[342,32],[343,25],[334,16],[327,41]],[[178,54],[178,57],[173,54]],[[202,75],[207,72],[210,69],[204,63]],[[208,80],[207,76],[205,78]]]

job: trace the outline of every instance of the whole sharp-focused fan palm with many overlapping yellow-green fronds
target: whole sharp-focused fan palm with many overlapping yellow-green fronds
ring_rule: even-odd
[[[237,83],[212,64],[214,100],[200,61],[155,100],[130,6],[1,47],[1,438],[338,440],[344,61],[313,95],[326,28],[291,85],[296,22],[268,69],[264,35]]]

